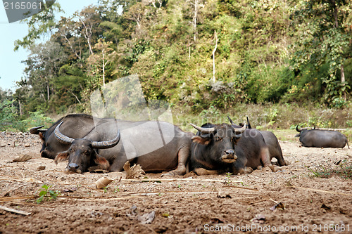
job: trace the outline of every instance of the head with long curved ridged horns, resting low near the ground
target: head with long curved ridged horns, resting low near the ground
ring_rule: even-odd
[[[70,148],[56,155],[55,162],[61,162],[68,159],[68,165],[65,171],[72,173],[82,173],[87,171],[88,167],[98,164],[99,168],[106,169],[110,167],[108,160],[101,157],[96,150],[113,148],[120,141],[120,130],[117,136],[111,141],[91,141],[87,138],[73,139],[61,134],[59,128],[62,122],[56,126],[55,136],[61,143],[70,144]]]

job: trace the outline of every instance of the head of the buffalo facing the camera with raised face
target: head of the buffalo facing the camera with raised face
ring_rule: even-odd
[[[191,126],[199,131],[192,138],[192,142],[205,145],[213,160],[225,163],[237,160],[234,145],[246,130],[246,124],[241,129],[234,129],[229,124],[203,124],[203,126],[191,124]]]

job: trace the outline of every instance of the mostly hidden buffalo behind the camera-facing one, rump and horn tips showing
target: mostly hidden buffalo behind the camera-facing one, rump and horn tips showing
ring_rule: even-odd
[[[232,122],[231,119],[230,119],[230,122]],[[233,122],[232,122],[232,124],[233,124]],[[243,125],[243,124],[239,124],[239,125]],[[247,117],[247,127],[249,129],[252,128],[248,117]],[[284,160],[284,157],[282,155],[281,146],[280,146],[279,141],[277,140],[277,137],[275,136],[275,134],[273,134],[271,131],[259,131],[259,132],[260,132],[260,134],[262,134],[266,145],[268,145],[270,159],[275,157],[277,159],[277,162],[280,167],[286,166],[287,164],[286,164],[286,161]]]

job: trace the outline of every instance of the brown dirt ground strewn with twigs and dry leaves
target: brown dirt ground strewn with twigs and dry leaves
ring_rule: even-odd
[[[40,157],[38,136],[3,132],[0,233],[352,233],[351,179],[312,172],[351,162],[352,149],[301,148],[294,134],[280,141],[291,164],[277,173],[136,182],[125,172],[65,174],[66,162]],[[23,155],[32,158],[12,162]],[[96,189],[101,177],[114,181]],[[44,184],[58,198],[37,204]]]

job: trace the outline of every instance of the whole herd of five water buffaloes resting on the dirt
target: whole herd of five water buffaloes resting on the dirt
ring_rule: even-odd
[[[66,171],[82,173],[89,169],[122,171],[125,162],[142,166],[146,172],[168,171],[183,175],[251,173],[270,167],[277,171],[287,163],[275,134],[252,129],[247,124],[191,124],[198,132],[184,132],[168,122],[130,122],[67,115],[49,129],[30,129],[42,139],[42,157],[55,162],[68,160]],[[337,131],[298,129],[303,146],[344,148],[346,136]],[[348,146],[349,148],[349,146]],[[277,164],[272,164],[272,158]]]

